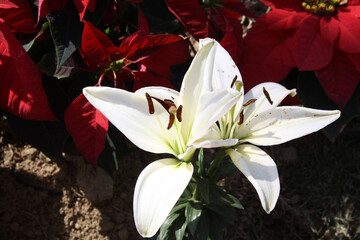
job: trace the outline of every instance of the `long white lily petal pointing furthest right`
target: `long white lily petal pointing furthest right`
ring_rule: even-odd
[[[340,111],[304,107],[277,107],[260,113],[241,126],[236,136],[255,145],[281,144],[316,132],[340,117]]]

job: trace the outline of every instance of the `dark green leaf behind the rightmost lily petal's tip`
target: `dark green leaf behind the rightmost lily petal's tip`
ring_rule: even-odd
[[[297,79],[297,91],[299,99],[306,107],[334,110],[338,106],[328,98],[324,89],[317,80],[314,72],[300,72]],[[327,137],[334,141],[341,130],[353,118],[360,116],[360,84],[355,89],[354,94],[341,111],[338,120],[325,127],[323,130]]]

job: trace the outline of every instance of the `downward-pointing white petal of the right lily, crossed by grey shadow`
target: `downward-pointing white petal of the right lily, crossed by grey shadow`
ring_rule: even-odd
[[[267,153],[249,144],[228,149],[227,152],[235,166],[254,186],[263,209],[270,213],[280,193],[279,175],[275,162]]]

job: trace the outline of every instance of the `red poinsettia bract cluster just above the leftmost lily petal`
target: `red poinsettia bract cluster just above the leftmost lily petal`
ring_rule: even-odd
[[[138,31],[125,38],[116,47],[108,37],[85,21],[80,53],[86,64],[95,70],[111,70],[116,77],[121,76],[124,65],[137,63],[142,72],[148,72],[156,77],[172,78],[170,66],[185,62],[189,58],[188,40],[171,34],[147,35]],[[121,62],[119,62],[121,60]],[[128,68],[125,73],[128,80]],[[134,80],[134,75],[133,80]],[[148,76],[148,75],[139,75]],[[138,77],[137,77],[138,78]],[[149,81],[148,86],[158,85],[159,81],[151,81],[146,77],[142,82]],[[119,80],[115,79],[117,86]],[[169,86],[170,82],[165,84]],[[138,85],[135,85],[138,86]],[[135,89],[136,90],[136,87]]]

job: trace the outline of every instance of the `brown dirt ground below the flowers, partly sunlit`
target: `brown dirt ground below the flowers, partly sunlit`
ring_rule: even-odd
[[[357,121],[346,128],[345,137],[339,140],[341,146],[348,143],[356,156],[360,156],[359,138],[355,138],[359,126]],[[1,121],[0,132],[0,239],[141,239],[132,217],[133,187],[141,170],[156,155],[132,150],[119,160],[119,170],[112,179],[100,168],[95,172],[80,156],[65,156],[63,163],[51,161],[16,140],[6,121]],[[315,148],[319,152],[307,151],[310,155],[303,156],[301,149],[311,150],[314,144],[321,146],[320,150]],[[359,239],[360,194],[354,190],[360,184],[359,167],[348,166],[347,171],[355,169],[355,180],[340,176],[340,181],[346,178],[346,184],[354,185],[347,187],[349,192],[341,192],[342,196],[350,194],[350,200],[344,202],[340,193],[327,196],[322,192],[329,186],[314,179],[321,175],[311,165],[315,161],[304,160],[314,154],[320,158],[323,153],[333,155],[332,149],[322,133],[265,149],[278,164],[282,184],[278,204],[269,215],[240,173],[227,179],[227,189],[240,199],[245,210],[239,211],[239,220],[229,227],[225,239]],[[314,175],[311,169],[304,172],[302,164],[311,165]],[[314,181],[313,187],[309,181]],[[316,193],[321,195],[319,200]]]

